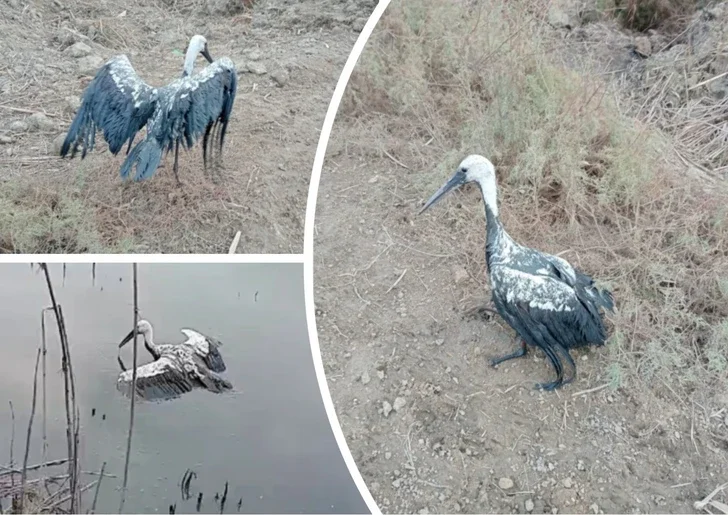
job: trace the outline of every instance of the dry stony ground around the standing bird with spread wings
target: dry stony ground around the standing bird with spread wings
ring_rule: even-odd
[[[241,231],[238,252],[300,253],[320,126],[373,5],[2,0],[0,251],[220,253]],[[126,53],[161,85],[178,76],[197,33],[238,68],[222,183],[204,178],[198,147],[180,156],[181,189],[171,155],[151,180],[122,183],[123,156],[100,136],[83,161],[57,157],[57,138],[104,60]],[[78,42],[89,55],[71,55]]]

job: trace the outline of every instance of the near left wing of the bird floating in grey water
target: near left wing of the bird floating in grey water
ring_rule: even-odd
[[[131,396],[132,371],[119,374],[116,388],[127,397]],[[137,394],[146,400],[167,400],[192,391],[195,384],[180,363],[174,358],[162,356],[156,361],[137,368]]]

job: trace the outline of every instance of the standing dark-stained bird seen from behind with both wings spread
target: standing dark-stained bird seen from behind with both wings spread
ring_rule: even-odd
[[[195,60],[202,55],[210,63],[193,74]],[[96,131],[101,130],[109,150],[117,155],[127,145],[121,177],[136,167],[135,181],[154,175],[163,152],[174,149],[174,176],[180,184],[180,145],[187,149],[202,137],[202,159],[207,171],[208,142],[222,153],[228,122],[237,91],[237,71],[227,57],[214,61],[204,36],[190,40],[182,76],[167,86],[155,88],[136,73],[126,55],[107,61],[83,94],[81,107],[61,146],[61,156],[81,159],[93,150]],[[146,136],[131,148],[134,138],[146,126]],[[131,152],[130,152],[131,151]]]

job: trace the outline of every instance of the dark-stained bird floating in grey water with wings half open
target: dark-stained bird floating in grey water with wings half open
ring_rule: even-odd
[[[187,340],[180,344],[154,343],[152,324],[146,320],[137,323],[136,331],[144,337],[144,346],[154,361],[137,368],[137,393],[147,400],[172,399],[204,388],[213,393],[231,390],[233,385],[219,374],[225,371],[220,355],[218,340],[192,329],[182,329]],[[132,329],[119,343],[119,349],[134,338]],[[132,370],[122,368],[116,382],[117,389],[129,396],[132,384]]]

